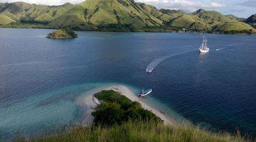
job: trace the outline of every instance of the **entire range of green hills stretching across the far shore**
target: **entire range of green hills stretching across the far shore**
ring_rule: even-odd
[[[242,18],[225,16],[217,11],[199,9],[185,13],[156,9],[134,0],[87,0],[77,5],[67,3],[60,6],[0,3],[0,26],[14,28],[33,28],[36,25],[36,28],[69,26],[82,31],[256,33],[255,28],[247,23],[243,23]]]

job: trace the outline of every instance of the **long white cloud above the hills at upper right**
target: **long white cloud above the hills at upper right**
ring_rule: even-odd
[[[210,2],[208,4],[201,1],[188,1],[188,0],[139,0],[146,4],[152,4],[158,8],[165,9],[183,9],[186,11],[195,11],[197,9],[218,9],[226,7],[225,4],[217,2]]]

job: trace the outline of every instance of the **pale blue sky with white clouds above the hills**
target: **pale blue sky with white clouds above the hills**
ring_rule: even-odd
[[[70,2],[79,4],[85,0],[0,0],[0,2],[23,1],[31,4],[60,5]],[[135,0],[156,6],[158,9],[181,9],[193,12],[197,9],[215,10],[247,18],[256,13],[256,0]]]

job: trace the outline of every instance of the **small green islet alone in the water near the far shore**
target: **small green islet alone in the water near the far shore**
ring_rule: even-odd
[[[71,28],[61,28],[53,33],[49,33],[46,38],[53,39],[68,39],[68,38],[78,38],[78,34],[75,33]]]

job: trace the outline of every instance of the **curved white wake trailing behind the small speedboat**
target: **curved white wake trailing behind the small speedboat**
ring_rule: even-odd
[[[182,54],[185,54],[185,53],[190,53],[192,51],[195,51],[195,50],[198,50],[198,49],[194,49],[194,50],[188,50],[188,51],[184,51],[182,53],[176,53],[176,54],[172,54],[172,55],[166,55],[162,58],[157,58],[155,60],[152,60],[149,65],[146,67],[146,72],[153,72],[154,68],[157,67],[157,65],[159,65],[161,62],[164,62],[164,60],[166,60],[167,58],[171,58],[171,57],[175,57],[175,56],[178,56],[178,55],[182,55]]]

